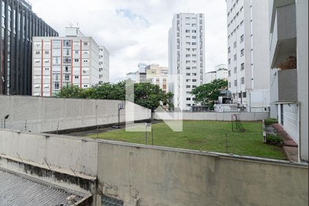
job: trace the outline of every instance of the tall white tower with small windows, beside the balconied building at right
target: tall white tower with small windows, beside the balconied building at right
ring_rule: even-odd
[[[227,0],[229,90],[247,111],[270,106],[268,1]]]

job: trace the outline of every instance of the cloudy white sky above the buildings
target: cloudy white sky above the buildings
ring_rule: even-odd
[[[227,62],[225,0],[30,0],[60,36],[79,25],[110,53],[111,82],[139,62],[168,66],[168,30],[179,12],[205,13],[206,70]]]

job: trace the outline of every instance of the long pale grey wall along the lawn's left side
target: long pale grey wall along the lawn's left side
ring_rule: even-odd
[[[0,95],[0,122],[10,115],[5,128],[49,132],[118,122],[117,100],[74,100]],[[133,104],[128,102],[128,104]],[[134,104],[135,120],[149,119],[151,111]],[[125,122],[125,111],[120,113]]]

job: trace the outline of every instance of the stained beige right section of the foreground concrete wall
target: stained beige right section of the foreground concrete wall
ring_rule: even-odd
[[[98,183],[125,206],[308,205],[308,165],[190,150],[101,143]]]

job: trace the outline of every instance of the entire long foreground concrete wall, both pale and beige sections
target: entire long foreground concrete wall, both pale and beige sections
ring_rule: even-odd
[[[308,205],[307,164],[46,135],[0,130],[0,154],[94,174],[93,205]]]

